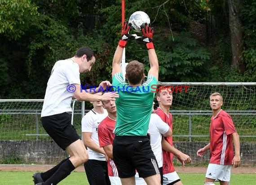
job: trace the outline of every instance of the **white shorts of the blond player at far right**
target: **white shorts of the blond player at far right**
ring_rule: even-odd
[[[206,178],[220,181],[230,181],[231,165],[221,165],[210,163],[207,167]]]

